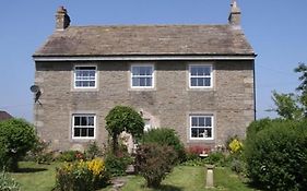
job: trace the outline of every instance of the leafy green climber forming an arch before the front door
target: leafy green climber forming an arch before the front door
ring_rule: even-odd
[[[143,134],[144,121],[139,112],[128,106],[116,106],[105,118],[106,130],[111,136],[113,152],[118,151],[118,136],[126,131],[133,138],[140,138]]]

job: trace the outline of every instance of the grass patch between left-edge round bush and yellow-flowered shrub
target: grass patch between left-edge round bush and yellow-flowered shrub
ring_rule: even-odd
[[[56,183],[56,167],[59,164],[38,165],[21,162],[19,172],[11,176],[21,184],[22,191],[51,191]]]

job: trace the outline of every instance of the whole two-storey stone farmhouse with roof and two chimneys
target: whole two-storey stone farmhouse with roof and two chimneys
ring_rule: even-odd
[[[234,1],[226,24],[71,26],[60,7],[55,32],[33,55],[38,134],[54,150],[106,143],[105,117],[125,105],[145,130],[172,128],[186,146],[245,136],[256,53],[240,16]]]

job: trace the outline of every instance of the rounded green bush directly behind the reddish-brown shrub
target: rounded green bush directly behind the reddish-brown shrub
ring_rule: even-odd
[[[180,139],[174,129],[158,128],[144,133],[143,143],[156,143],[160,145],[172,146],[178,156],[178,162],[186,160],[186,151]]]

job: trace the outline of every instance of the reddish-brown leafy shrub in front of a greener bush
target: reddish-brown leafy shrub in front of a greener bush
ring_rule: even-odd
[[[145,178],[147,187],[157,188],[174,168],[176,157],[172,146],[143,144],[137,150],[135,168]]]

